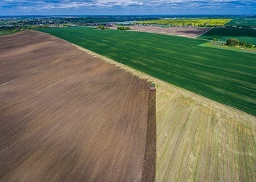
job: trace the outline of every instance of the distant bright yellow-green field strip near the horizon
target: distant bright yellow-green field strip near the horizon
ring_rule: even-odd
[[[162,19],[162,20],[148,20],[139,21],[137,23],[145,24],[159,24],[159,25],[225,25],[231,19]]]

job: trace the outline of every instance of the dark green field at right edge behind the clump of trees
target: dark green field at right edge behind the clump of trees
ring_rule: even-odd
[[[213,28],[201,36],[199,39],[213,40],[214,38],[221,41],[227,41],[229,38],[236,38],[239,41],[256,44],[256,30],[246,28]]]

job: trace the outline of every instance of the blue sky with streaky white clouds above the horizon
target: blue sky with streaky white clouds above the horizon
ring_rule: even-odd
[[[0,0],[0,15],[256,15],[256,0]]]

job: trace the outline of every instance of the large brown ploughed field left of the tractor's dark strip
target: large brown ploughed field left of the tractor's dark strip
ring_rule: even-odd
[[[1,36],[0,181],[140,181],[149,85],[45,33]]]

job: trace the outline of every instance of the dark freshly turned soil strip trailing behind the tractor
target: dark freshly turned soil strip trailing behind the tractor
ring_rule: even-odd
[[[156,92],[150,91],[146,147],[141,181],[155,181],[157,159]]]

